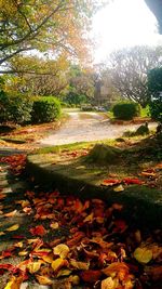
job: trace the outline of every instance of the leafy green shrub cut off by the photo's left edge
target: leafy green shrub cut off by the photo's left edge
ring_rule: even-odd
[[[2,93],[0,101],[0,122],[24,124],[31,119],[32,101],[26,94]]]

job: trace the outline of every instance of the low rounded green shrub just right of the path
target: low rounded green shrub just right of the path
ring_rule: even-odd
[[[140,115],[140,105],[137,103],[119,103],[112,107],[112,111],[116,118],[130,120]]]

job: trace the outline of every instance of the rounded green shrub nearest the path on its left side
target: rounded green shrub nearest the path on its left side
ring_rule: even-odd
[[[32,105],[32,123],[51,122],[60,115],[60,103],[53,96],[36,97]]]

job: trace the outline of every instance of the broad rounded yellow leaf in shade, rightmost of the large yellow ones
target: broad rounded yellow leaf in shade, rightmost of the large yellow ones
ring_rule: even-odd
[[[143,264],[147,264],[151,261],[152,259],[152,251],[150,249],[147,248],[137,248],[134,251],[134,258]]]

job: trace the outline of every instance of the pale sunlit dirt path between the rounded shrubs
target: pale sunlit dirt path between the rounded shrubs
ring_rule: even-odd
[[[100,141],[122,136],[124,131],[139,124],[111,124],[104,115],[97,113],[69,111],[69,120],[58,131],[39,141],[41,145],[60,145],[76,142]],[[154,128],[157,123],[149,123]]]

